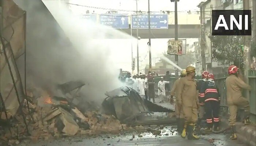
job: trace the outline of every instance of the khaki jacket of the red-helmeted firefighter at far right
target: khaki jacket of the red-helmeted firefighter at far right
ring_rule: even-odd
[[[246,84],[235,75],[226,78],[227,104],[233,104],[233,100],[242,97],[242,89],[251,90],[251,86]]]

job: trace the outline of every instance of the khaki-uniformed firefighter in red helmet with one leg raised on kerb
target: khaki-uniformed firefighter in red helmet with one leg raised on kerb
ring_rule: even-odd
[[[236,114],[237,107],[244,107],[245,119],[244,124],[249,125],[250,105],[249,101],[242,96],[242,89],[251,91],[251,86],[245,84],[240,78],[238,78],[239,69],[235,65],[231,65],[228,68],[229,77],[226,78],[227,89],[227,104],[229,105],[229,126],[231,127],[232,135],[230,139],[237,139],[236,135]]]

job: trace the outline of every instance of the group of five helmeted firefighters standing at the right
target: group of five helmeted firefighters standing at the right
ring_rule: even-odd
[[[249,120],[249,102],[242,96],[241,89],[251,90],[238,75],[237,66],[228,68],[229,77],[226,78],[227,104],[229,105],[230,139],[237,139],[236,115],[237,107],[244,107],[244,124],[251,124]],[[204,131],[219,131],[220,97],[214,81],[214,75],[204,71],[202,80],[195,81],[195,68],[188,66],[181,71],[180,78],[174,82],[171,99],[176,96],[175,114],[177,118],[177,132],[182,138],[199,139],[194,130],[204,128]],[[171,100],[172,101],[172,100]],[[202,119],[206,118],[206,127],[202,127]]]

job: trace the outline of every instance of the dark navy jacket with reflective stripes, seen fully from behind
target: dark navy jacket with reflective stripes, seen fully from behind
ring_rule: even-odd
[[[202,99],[204,102],[206,101],[219,101],[219,89],[216,86],[215,82],[213,80],[207,80],[202,84],[201,91],[204,93],[202,95]]]

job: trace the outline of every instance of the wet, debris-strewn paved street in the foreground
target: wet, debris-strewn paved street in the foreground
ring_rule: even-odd
[[[166,134],[166,135],[165,135]],[[182,139],[173,130],[164,128],[162,136],[155,136],[150,133],[142,133],[143,137],[139,138],[138,134],[125,135],[105,135],[95,138],[67,138],[53,142],[39,142],[36,144],[22,144],[21,146],[245,146],[239,144],[238,141],[230,141],[226,135],[212,134],[202,135],[199,140]],[[208,139],[215,138],[213,143]]]

